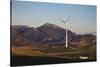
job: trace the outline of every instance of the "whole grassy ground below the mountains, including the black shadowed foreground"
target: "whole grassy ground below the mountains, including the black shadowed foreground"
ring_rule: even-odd
[[[57,63],[73,63],[96,61],[96,47],[89,46],[83,48],[65,47],[33,47],[20,46],[11,49],[11,66],[41,65]],[[79,59],[80,56],[88,56],[88,59]]]

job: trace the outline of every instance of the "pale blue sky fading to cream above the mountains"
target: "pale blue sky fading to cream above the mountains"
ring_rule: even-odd
[[[61,3],[43,3],[12,1],[12,25],[39,27],[45,23],[66,25],[60,20],[67,20],[67,29],[77,34],[96,33],[96,6]]]

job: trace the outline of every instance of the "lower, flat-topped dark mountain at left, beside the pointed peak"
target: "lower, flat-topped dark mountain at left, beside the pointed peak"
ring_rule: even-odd
[[[45,35],[33,27],[12,26],[12,40],[24,42],[39,42],[44,39]],[[13,42],[14,42],[13,41]],[[22,42],[23,42],[22,41]]]

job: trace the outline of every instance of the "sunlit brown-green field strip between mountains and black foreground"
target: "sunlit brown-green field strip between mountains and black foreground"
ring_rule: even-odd
[[[12,47],[12,55],[24,55],[24,56],[49,56],[60,58],[79,58],[79,56],[88,56],[96,58],[96,48],[84,47],[84,48],[43,48],[32,46]]]

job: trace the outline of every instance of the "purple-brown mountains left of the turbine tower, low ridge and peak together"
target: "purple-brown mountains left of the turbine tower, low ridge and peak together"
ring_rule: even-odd
[[[38,28],[27,26],[12,26],[12,41],[33,42],[35,44],[64,44],[66,30],[53,24],[46,23]]]

